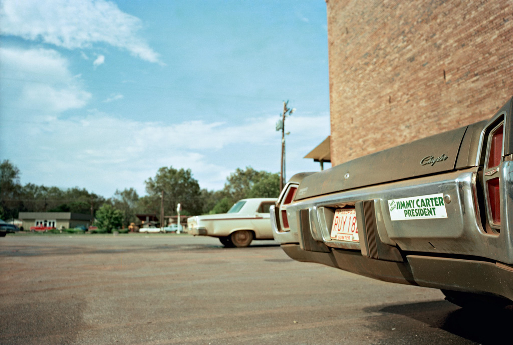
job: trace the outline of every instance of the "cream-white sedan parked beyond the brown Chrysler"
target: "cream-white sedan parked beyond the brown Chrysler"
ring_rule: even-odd
[[[189,233],[218,237],[225,247],[248,247],[253,239],[272,240],[269,207],[275,202],[275,198],[242,199],[228,213],[190,217]]]

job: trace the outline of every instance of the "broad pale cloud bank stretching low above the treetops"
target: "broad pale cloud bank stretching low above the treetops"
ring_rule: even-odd
[[[24,147],[19,158],[31,159],[23,159],[18,168],[23,172],[22,183],[83,186],[106,197],[130,187],[144,195],[144,181],[164,166],[191,169],[202,188],[218,190],[236,167],[278,170],[276,118],[243,124],[183,121],[165,125],[90,112],[84,118],[53,119],[27,125],[25,131],[39,139]],[[329,116],[295,116],[287,121],[292,132],[287,137],[287,154],[301,165],[306,161],[302,156],[321,141],[312,133],[329,134]],[[58,148],[54,138],[59,138]],[[234,161],[235,168],[226,164],[241,154],[246,158]],[[294,162],[288,165],[287,176],[303,170]]]

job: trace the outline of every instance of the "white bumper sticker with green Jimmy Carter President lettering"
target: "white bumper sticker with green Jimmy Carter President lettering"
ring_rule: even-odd
[[[388,200],[388,210],[391,220],[447,218],[442,193]]]

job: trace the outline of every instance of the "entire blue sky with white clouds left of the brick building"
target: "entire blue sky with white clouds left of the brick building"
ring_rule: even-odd
[[[21,182],[145,194],[160,167],[222,189],[236,168],[286,177],[329,135],[326,4],[0,1],[0,159]]]

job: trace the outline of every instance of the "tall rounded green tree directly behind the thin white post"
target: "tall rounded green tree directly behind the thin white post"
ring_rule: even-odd
[[[203,198],[198,180],[192,177],[190,169],[162,167],[154,178],[145,181],[147,197],[142,198],[141,205],[145,212],[157,213],[161,210],[161,193],[164,191],[164,214],[176,214],[176,206],[182,204],[182,214],[201,214]],[[157,211],[157,212],[155,212]]]

